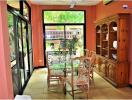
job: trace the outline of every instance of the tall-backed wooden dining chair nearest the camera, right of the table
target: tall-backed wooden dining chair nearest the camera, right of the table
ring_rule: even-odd
[[[78,67],[78,75],[75,72],[75,66]],[[84,92],[87,95],[89,93],[89,59],[88,57],[76,57],[71,60],[71,77],[67,77],[67,83],[71,86],[69,93],[73,99],[76,92]]]

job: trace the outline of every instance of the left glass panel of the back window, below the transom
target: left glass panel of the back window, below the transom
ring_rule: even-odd
[[[45,26],[46,54],[48,63],[54,69],[64,68],[65,34],[64,25]]]

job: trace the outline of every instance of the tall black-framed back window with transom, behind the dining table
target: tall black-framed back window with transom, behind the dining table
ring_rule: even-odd
[[[50,64],[84,55],[85,11],[43,11],[43,16],[44,54]]]

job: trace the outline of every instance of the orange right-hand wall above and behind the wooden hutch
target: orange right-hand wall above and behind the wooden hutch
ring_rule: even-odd
[[[124,9],[122,7],[123,4],[127,4],[128,9]],[[96,20],[105,18],[116,13],[130,13],[130,25],[132,25],[132,1],[118,0],[111,2],[108,5],[103,5],[103,3],[101,2],[96,6]],[[132,84],[132,27],[130,27],[129,34],[129,62],[130,84]]]

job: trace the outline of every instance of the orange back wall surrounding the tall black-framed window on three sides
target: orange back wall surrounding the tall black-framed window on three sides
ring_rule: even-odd
[[[43,26],[42,10],[86,10],[86,48],[95,50],[95,6],[76,6],[69,9],[69,6],[40,6],[31,5],[32,9],[32,34],[33,34],[33,60],[34,66],[44,66],[43,57]]]

